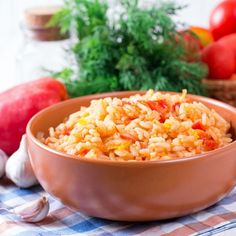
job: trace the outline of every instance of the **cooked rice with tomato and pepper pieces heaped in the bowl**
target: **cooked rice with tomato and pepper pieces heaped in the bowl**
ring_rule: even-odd
[[[38,139],[84,158],[146,161],[205,153],[232,142],[230,124],[186,96],[147,91],[143,96],[92,100]]]

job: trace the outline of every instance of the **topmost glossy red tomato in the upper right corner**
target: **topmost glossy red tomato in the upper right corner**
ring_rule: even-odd
[[[221,2],[212,11],[210,29],[215,40],[236,32],[236,1]]]

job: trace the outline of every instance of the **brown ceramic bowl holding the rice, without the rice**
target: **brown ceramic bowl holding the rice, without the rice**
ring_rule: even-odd
[[[27,127],[31,163],[42,187],[65,205],[90,216],[112,220],[167,219],[204,209],[226,196],[236,182],[236,141],[190,158],[122,162],[75,158],[40,143],[47,133],[80,106],[97,98],[127,97],[115,92],[80,97],[51,106]],[[140,93],[140,92],[139,92]],[[236,128],[236,109],[199,96],[193,100],[214,108]]]

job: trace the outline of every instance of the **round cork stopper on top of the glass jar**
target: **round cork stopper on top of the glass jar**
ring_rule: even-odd
[[[25,10],[25,27],[31,31],[30,35],[40,41],[54,41],[68,38],[62,35],[59,27],[48,27],[52,16],[60,10],[61,6],[36,6]]]

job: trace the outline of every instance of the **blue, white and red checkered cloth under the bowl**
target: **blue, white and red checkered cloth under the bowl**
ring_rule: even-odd
[[[13,208],[39,196],[49,198],[50,213],[37,224],[19,222],[4,208]],[[218,204],[197,214],[170,221],[148,223],[115,222],[89,217],[70,210],[49,196],[40,186],[19,189],[8,180],[0,180],[1,236],[59,235],[212,235],[236,227],[236,188]]]

